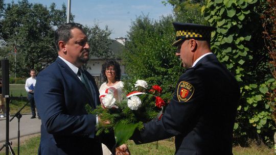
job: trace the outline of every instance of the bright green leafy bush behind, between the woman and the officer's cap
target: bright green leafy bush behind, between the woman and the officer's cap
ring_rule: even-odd
[[[160,85],[169,94],[183,72],[171,45],[175,39],[172,21],[172,16],[160,17],[159,21],[145,15],[137,17],[131,24],[123,52],[123,62],[132,79]]]

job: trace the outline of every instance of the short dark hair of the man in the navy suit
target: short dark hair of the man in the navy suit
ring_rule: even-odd
[[[84,30],[82,28],[82,24],[79,23],[65,23],[60,25],[60,27],[55,31],[55,45],[57,50],[59,51],[58,42],[64,41],[65,43],[72,38],[71,30],[72,29],[80,29],[83,33]],[[85,33],[84,33],[85,34]]]

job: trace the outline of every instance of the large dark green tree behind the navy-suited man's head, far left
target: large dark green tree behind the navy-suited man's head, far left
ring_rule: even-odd
[[[15,72],[14,48],[17,50],[18,76],[27,76],[31,68],[39,71],[56,59],[54,29],[66,22],[66,7],[64,4],[61,10],[55,7],[54,3],[48,9],[27,0],[18,1],[18,4],[5,4],[1,19],[5,46],[1,50],[11,62],[10,72]]]

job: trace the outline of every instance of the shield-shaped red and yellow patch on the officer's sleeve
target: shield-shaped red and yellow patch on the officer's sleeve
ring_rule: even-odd
[[[194,87],[187,82],[180,82],[177,87],[177,98],[178,101],[186,102],[188,101],[194,94]]]

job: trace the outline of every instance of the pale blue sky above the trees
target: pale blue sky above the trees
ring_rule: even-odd
[[[11,3],[5,0],[5,3]],[[14,1],[17,3],[17,1]],[[55,3],[61,8],[67,0],[29,0],[30,3],[46,5]],[[164,6],[162,0],[71,0],[71,13],[75,15],[75,22],[89,26],[98,23],[101,28],[105,25],[112,31],[111,39],[126,37],[127,31],[137,16],[149,15],[151,19],[159,19],[160,16],[172,14],[172,6]]]

